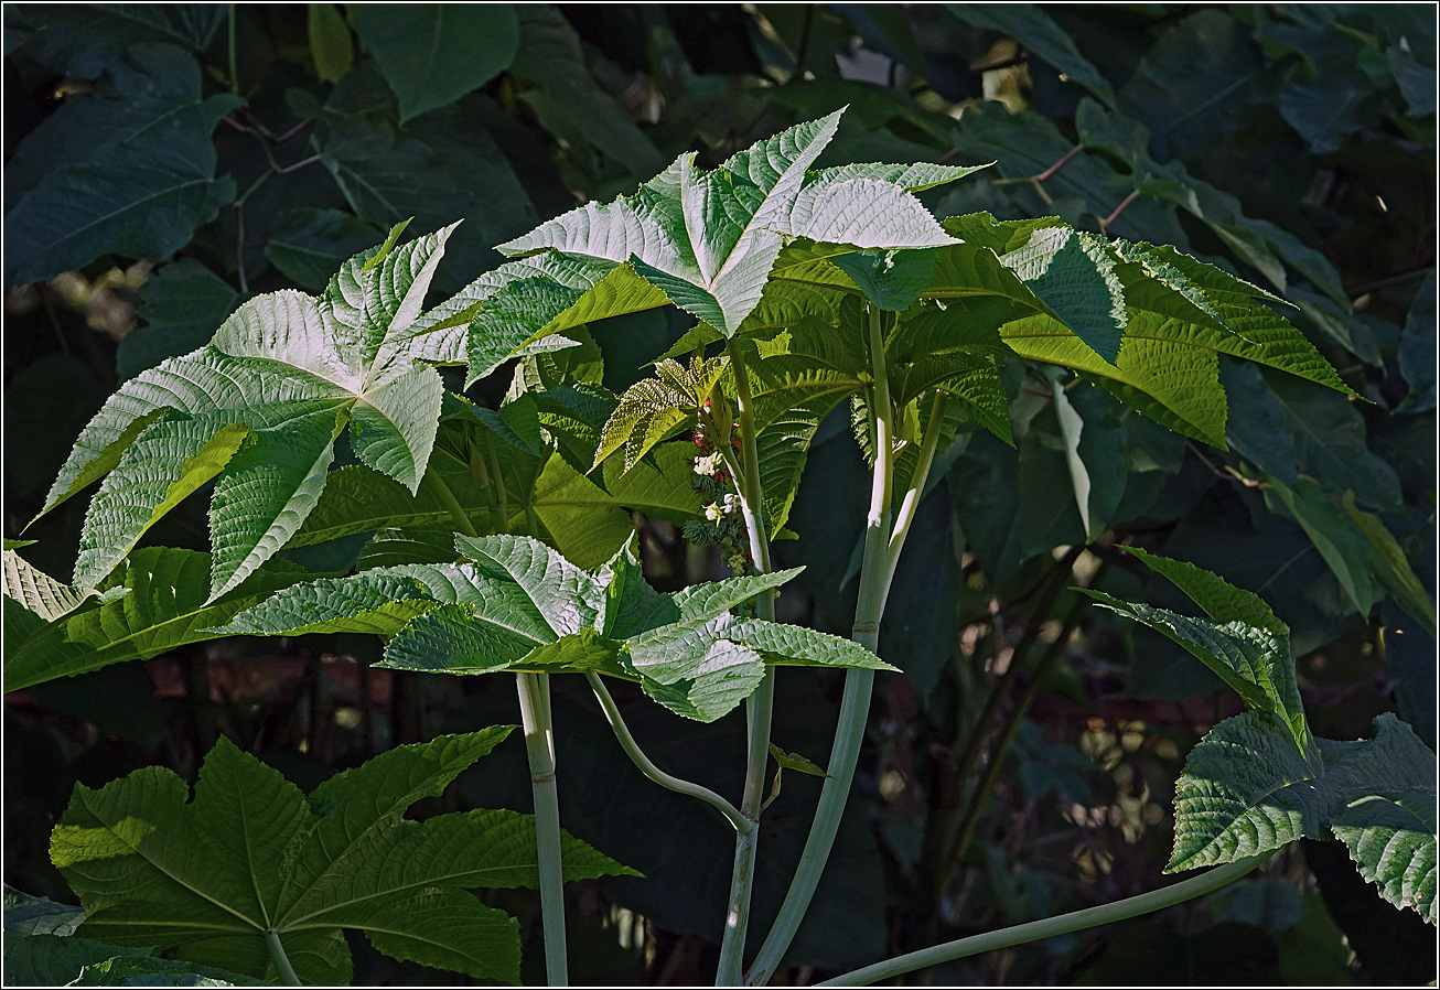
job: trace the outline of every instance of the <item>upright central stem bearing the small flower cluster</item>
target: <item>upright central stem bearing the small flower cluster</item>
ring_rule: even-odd
[[[769,574],[770,540],[765,531],[765,494],[760,488],[760,453],[755,437],[755,397],[750,393],[750,376],[744,365],[744,354],[734,340],[726,341],[730,354],[730,371],[734,376],[737,422],[740,429],[740,453],[743,463],[734,475],[740,489],[740,511],[744,515],[750,537],[750,557],[760,574]],[[734,471],[732,469],[732,473]],[[762,591],[755,600],[755,613],[760,619],[775,620],[775,596]],[[744,793],[740,799],[740,814],[752,825],[760,820],[760,804],[765,800],[765,770],[770,755],[770,714],[775,707],[775,668],[766,668],[765,679],[755,694],[746,698],[746,767]],[[755,888],[755,856],[760,830],[752,827],[736,835],[734,869],[730,873],[730,899],[726,905],[726,927],[720,938],[720,967],[716,973],[719,986],[736,986],[744,970],[744,934],[750,925],[750,892]]]

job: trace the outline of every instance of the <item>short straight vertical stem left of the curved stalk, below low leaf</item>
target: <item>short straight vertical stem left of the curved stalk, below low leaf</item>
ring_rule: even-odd
[[[564,951],[564,871],[560,860],[560,799],[554,787],[554,748],[550,735],[544,673],[517,673],[520,719],[530,761],[530,790],[536,804],[536,855],[540,863],[540,917],[544,928],[546,981],[569,986]]]

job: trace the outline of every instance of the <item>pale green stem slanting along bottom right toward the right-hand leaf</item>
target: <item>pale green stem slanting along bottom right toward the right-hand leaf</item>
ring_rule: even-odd
[[[988,931],[982,935],[971,935],[969,938],[958,938],[953,943],[932,945],[930,948],[922,948],[917,953],[906,953],[904,955],[897,955],[893,960],[867,966],[863,970],[847,973],[845,976],[835,977],[834,980],[825,980],[816,986],[863,987],[865,984],[876,983],[877,980],[886,980],[893,976],[900,976],[901,973],[913,973],[914,970],[923,970],[927,966],[949,963],[952,960],[965,958],[966,955],[975,955],[976,953],[988,953],[995,948],[1022,945],[1024,943],[1032,943],[1040,938],[1067,935],[1071,931],[1094,928],[1096,925],[1107,925],[1116,921],[1125,921],[1126,918],[1135,918],[1136,915],[1159,911],[1161,908],[1169,908],[1210,894],[1211,891],[1218,891],[1221,886],[1240,879],[1273,855],[1274,850],[1272,849],[1270,852],[1259,856],[1250,856],[1248,859],[1217,866],[1201,876],[1192,876],[1188,881],[1171,884],[1159,891],[1151,891],[1149,894],[1140,894],[1139,896],[1125,898],[1123,901],[1115,901],[1113,904],[1083,908],[1056,918],[1031,921],[1012,928]]]

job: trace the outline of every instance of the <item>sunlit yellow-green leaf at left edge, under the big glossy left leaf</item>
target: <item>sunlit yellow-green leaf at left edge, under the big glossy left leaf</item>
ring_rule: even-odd
[[[210,570],[209,554],[145,547],[131,553],[127,566],[98,586],[99,599],[49,620],[12,599],[7,586],[4,689],[20,691],[215,639],[204,632],[207,626],[223,625],[272,591],[314,577],[274,560],[219,599],[207,600]]]

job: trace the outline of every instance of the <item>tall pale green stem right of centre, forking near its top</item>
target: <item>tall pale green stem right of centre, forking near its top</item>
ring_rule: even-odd
[[[870,514],[865,518],[865,551],[860,570],[860,596],[855,600],[855,625],[851,629],[851,639],[868,649],[878,652],[880,646],[880,616],[886,607],[886,596],[890,591],[888,578],[893,573],[890,557],[899,555],[904,545],[904,531],[897,531],[899,542],[890,534],[890,496],[894,472],[894,413],[890,407],[890,380],[886,371],[884,338],[880,332],[880,311],[870,309],[870,361],[874,374],[874,393],[870,401],[870,419],[876,443],[876,465],[870,488]],[[943,412],[943,410],[942,410]],[[932,414],[932,424],[939,432],[939,417]],[[935,456],[936,437],[926,429],[924,446],[929,456]],[[919,491],[924,491],[924,475],[929,473],[929,459],[922,459],[916,469],[912,488],[919,483]],[[913,517],[912,517],[913,518]],[[909,527],[909,522],[906,524]],[[769,937],[760,947],[746,986],[763,986],[775,968],[780,964],[785,950],[789,948],[795,932],[799,931],[801,921],[809,909],[811,898],[819,885],[821,873],[825,872],[825,862],[829,850],[835,845],[835,833],[840,830],[840,819],[845,812],[845,801],[850,797],[850,784],[855,776],[855,763],[860,758],[860,744],[865,735],[865,722],[870,718],[870,695],[874,689],[876,672],[850,669],[845,671],[845,692],[840,702],[840,718],[835,725],[835,741],[829,750],[829,774],[821,786],[819,804],[815,809],[815,819],[811,822],[809,837],[805,840],[805,852],[801,853],[799,866],[791,881],[791,889],[780,905],[780,914],[770,928]]]

